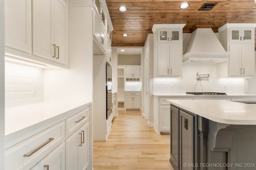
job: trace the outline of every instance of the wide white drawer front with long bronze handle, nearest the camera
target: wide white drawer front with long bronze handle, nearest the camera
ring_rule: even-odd
[[[65,121],[45,129],[5,150],[5,169],[29,169],[65,138]]]

